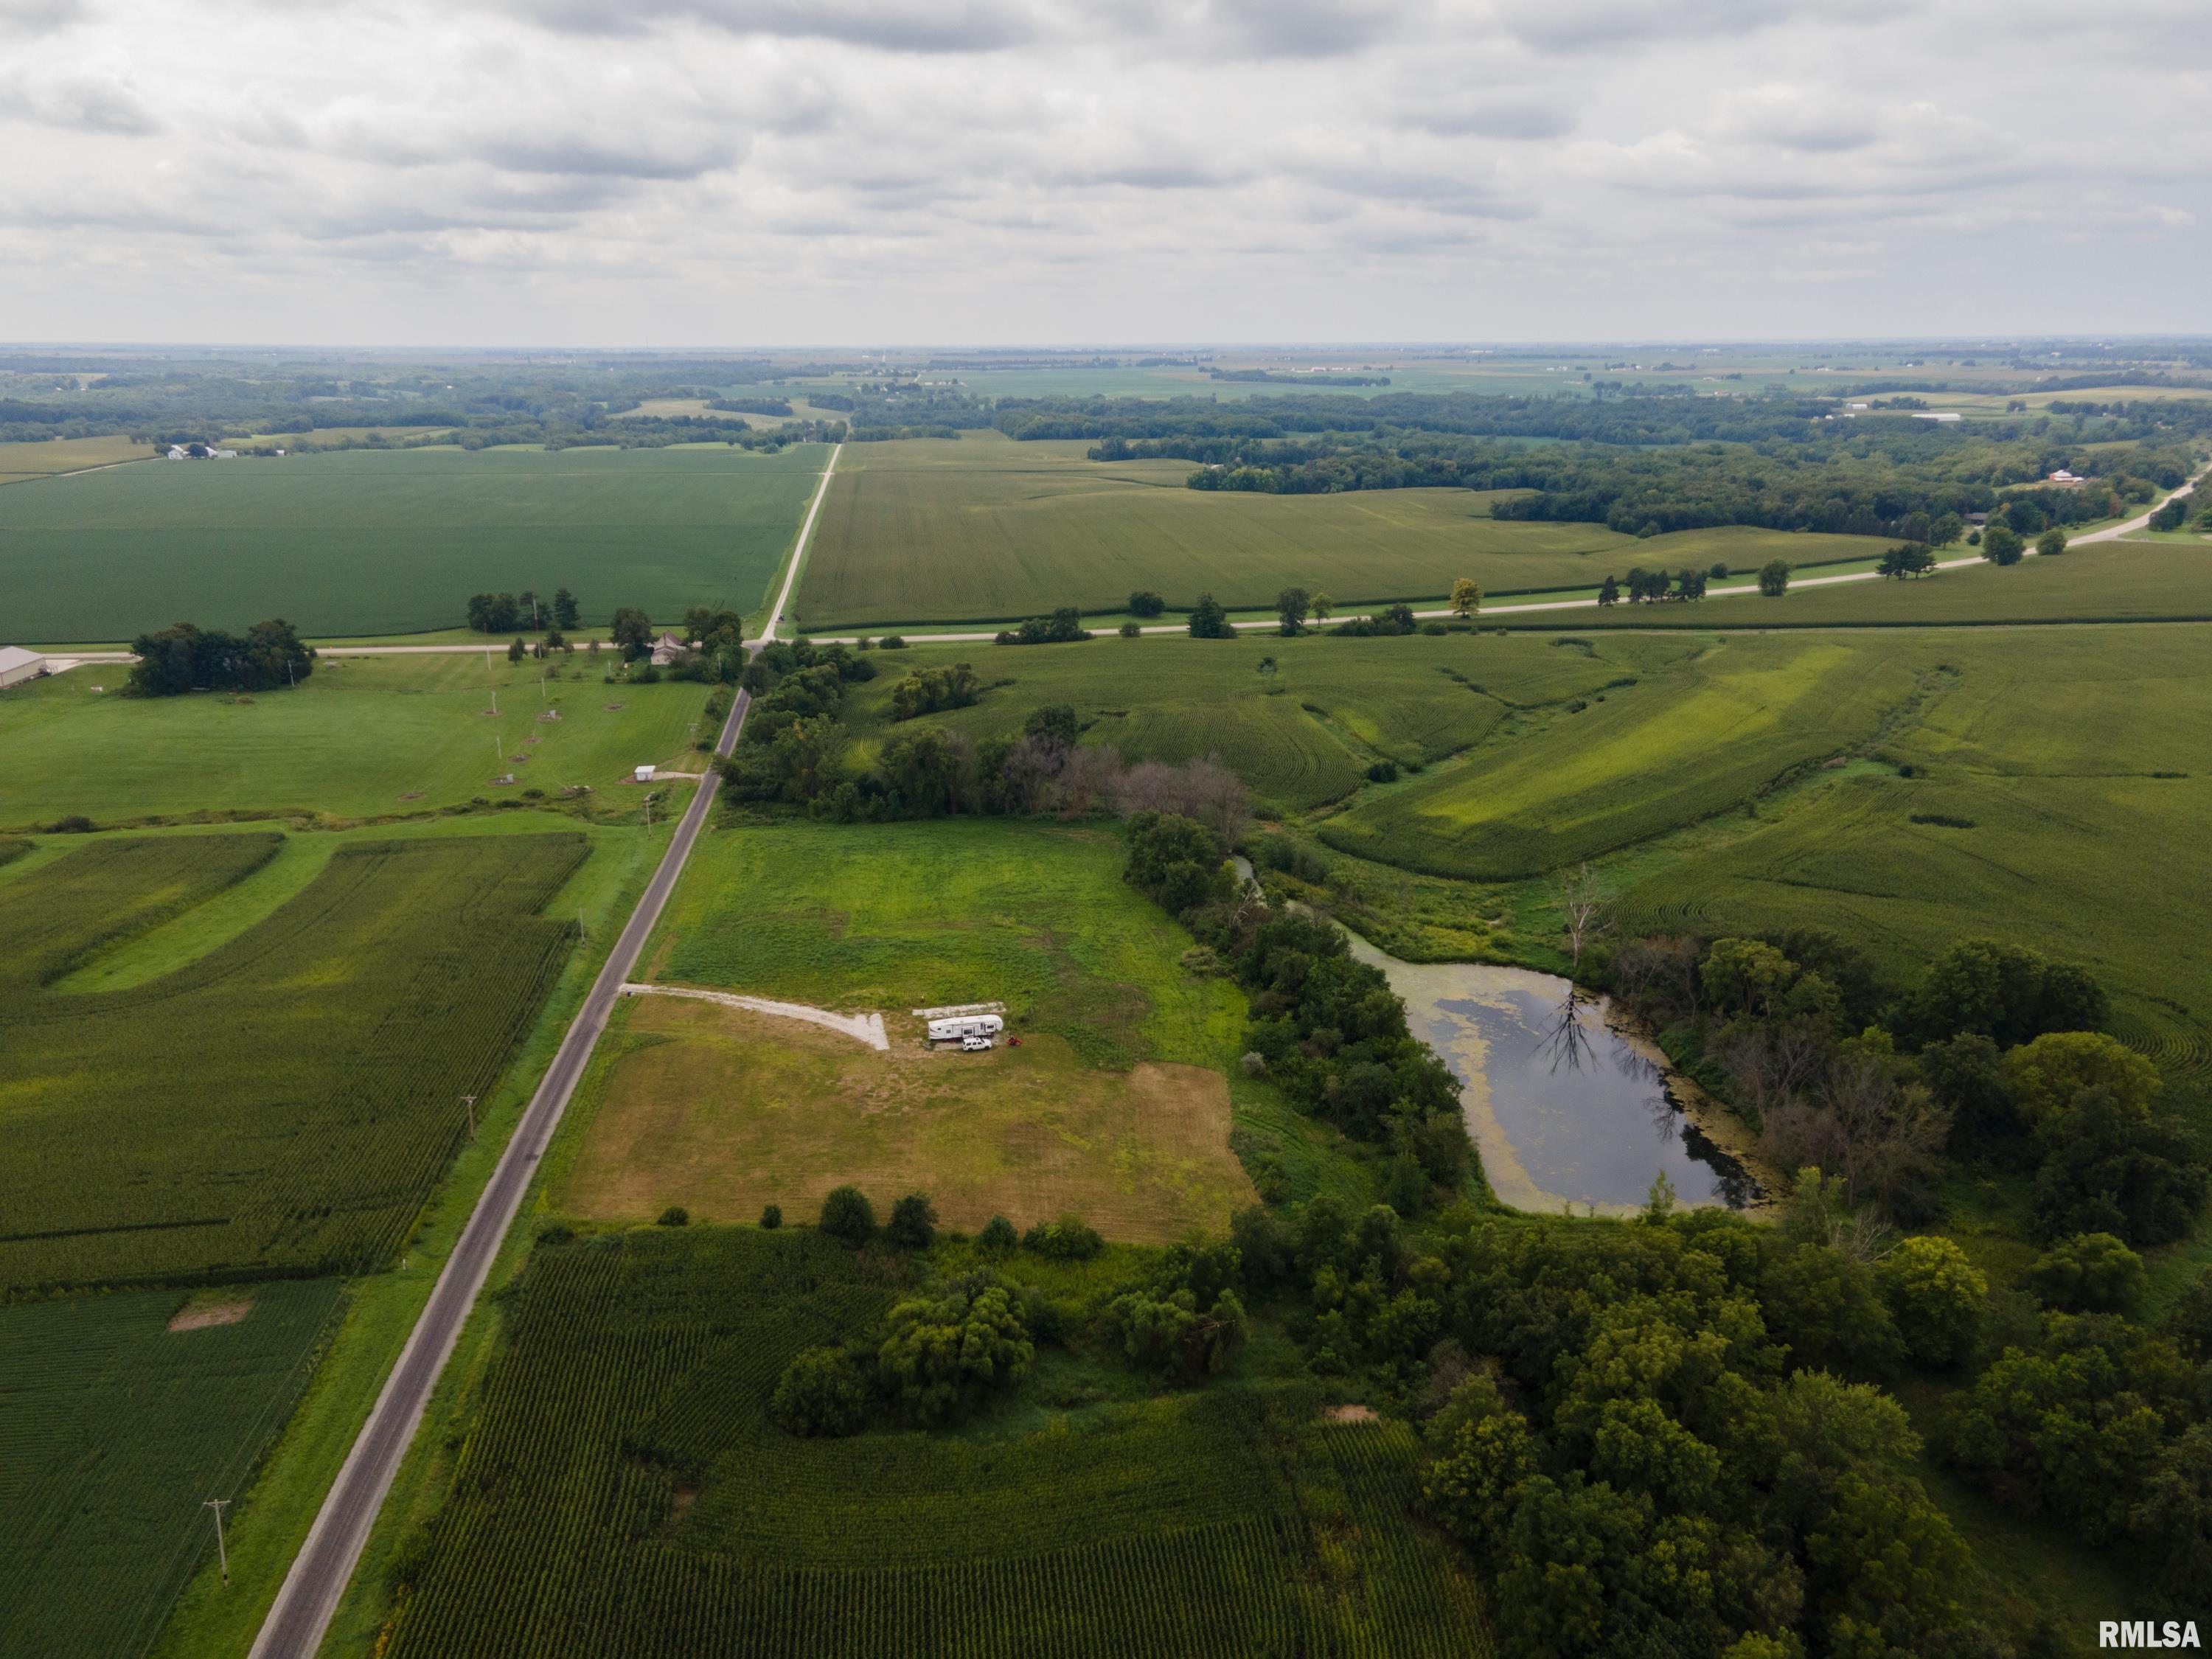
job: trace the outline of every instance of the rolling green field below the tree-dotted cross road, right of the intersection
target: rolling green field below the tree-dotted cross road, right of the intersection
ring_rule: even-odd
[[[1254,796],[1301,812],[1352,794],[1376,761],[1427,765],[1546,703],[1601,695],[1608,681],[1692,653],[1688,639],[1621,637],[1559,650],[1548,637],[1409,635],[1352,639],[1093,639],[1075,646],[916,646],[849,701],[854,761],[900,730],[891,692],[916,668],[969,661],[989,690],[971,708],[925,714],[969,739],[1020,732],[1042,703],[1071,703],[1086,743],[1130,761],[1217,754]],[[1263,659],[1274,672],[1261,672]]]

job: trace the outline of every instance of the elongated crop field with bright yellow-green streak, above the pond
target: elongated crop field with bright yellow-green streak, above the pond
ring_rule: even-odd
[[[1913,695],[1909,653],[1887,639],[1728,637],[1613,688],[1604,703],[1546,710],[1460,763],[1363,796],[1321,838],[1478,880],[1595,858],[1867,743]]]

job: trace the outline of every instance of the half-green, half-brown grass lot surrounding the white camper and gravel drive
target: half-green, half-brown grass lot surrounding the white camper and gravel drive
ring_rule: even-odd
[[[1254,1201],[1232,1117],[1296,1161],[1318,1130],[1228,1073],[1243,993],[1121,880],[1115,830],[1006,821],[734,825],[699,843],[650,978],[880,1011],[891,1053],[799,1022],[646,998],[586,1088],[560,1210],[666,1203],[794,1219],[856,1179],[953,1225],[1075,1210],[1113,1239],[1221,1232]],[[1004,1002],[1020,1048],[927,1053],[911,1009]],[[1261,1097],[1265,1095],[1265,1099]],[[1285,1146],[1287,1144],[1287,1146]]]

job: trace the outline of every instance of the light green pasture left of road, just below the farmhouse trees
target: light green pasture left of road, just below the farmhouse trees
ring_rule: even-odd
[[[699,770],[706,686],[608,686],[586,653],[544,668],[562,677],[540,684],[538,661],[504,653],[489,666],[478,655],[325,657],[296,690],[119,697],[124,666],[86,664],[0,692],[0,827],[71,814],[369,818],[575,783],[611,810],[641,794],[624,783],[637,765]],[[509,774],[511,785],[495,783]]]

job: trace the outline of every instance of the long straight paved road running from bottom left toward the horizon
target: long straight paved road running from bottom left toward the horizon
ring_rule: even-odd
[[[792,544],[792,568],[783,580],[783,591],[776,595],[776,608],[768,613],[768,628],[761,641],[776,637],[776,624],[783,619],[783,606],[792,595],[792,582],[814,535],[814,518],[821,513],[823,495],[830,491],[830,473],[836,471],[841,453],[843,445],[830,451],[830,465],[823,467],[823,480],[814,489],[814,502],[807,507],[805,524],[799,526],[799,540]],[[728,754],[737,745],[750,701],[743,690],[732,699],[730,719],[723,721],[721,737],[714,741],[717,754]],[[690,858],[690,849],[699,841],[699,830],[706,825],[706,814],[714,803],[714,783],[717,776],[710,772],[684,812],[681,823],[677,823],[677,834],[668,843],[668,852],[661,854],[659,869],[646,883],[646,891],[637,900],[637,909],[630,911],[622,938],[615,940],[615,949],[608,951],[599,978],[591,984],[591,995],[584,998],[584,1006],[568,1024],[568,1035],[562,1037],[553,1064],[546,1068],[538,1093],[531,1095],[531,1104],[522,1113],[522,1121],[515,1124],[515,1133],[507,1141],[507,1150],[500,1152],[500,1164],[476,1201],[476,1210],[469,1214],[453,1254],[447,1256],[445,1270],[438,1274],[438,1283],[422,1305],[414,1332],[407,1336],[407,1347],[400,1349],[398,1365],[385,1378],[383,1394],[376,1396],[376,1405],[369,1409],[369,1420],[361,1427],[345,1467],[338,1469],[338,1478],[323,1500],[314,1526],[307,1531],[307,1542],[292,1559],[292,1571],[285,1575],[283,1588],[276,1590],[276,1601],[270,1606],[270,1615],[261,1624],[261,1635],[254,1639],[252,1659],[312,1659],[314,1650],[323,1644],[323,1632],[338,1608],[338,1597],[345,1593],[345,1584],[361,1562],[376,1511],[383,1506],[400,1458],[407,1453],[407,1442],[414,1440],[416,1425],[422,1420],[422,1407],[438,1383],[438,1371],[445,1369],[447,1358],[453,1354],[460,1327],[476,1305],[476,1294],[484,1287],[491,1263],[500,1254],[500,1243],[507,1239],[507,1228],[522,1208],[522,1197],[538,1175],[538,1161],[544,1157],[553,1130],[560,1126],[568,1095],[575,1093],[577,1077],[584,1075],[584,1062],[591,1060],[599,1033],[606,1031],[606,1015],[615,1006],[615,998],[622,995],[622,987],[628,982],[630,969],[637,964],[637,956],[644,951],[655,922],[659,922],[661,907],[668,902],[677,876],[684,874],[684,860]]]

